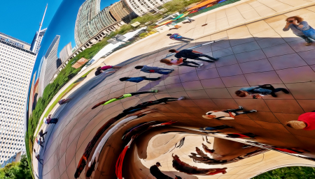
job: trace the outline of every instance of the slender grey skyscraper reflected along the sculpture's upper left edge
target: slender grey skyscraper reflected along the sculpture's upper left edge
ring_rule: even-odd
[[[59,46],[60,36],[55,36],[52,40],[50,46],[47,49],[45,56],[42,59],[41,73],[39,73],[39,95],[43,95],[43,90],[45,87],[50,84],[50,79],[57,71],[57,51]]]

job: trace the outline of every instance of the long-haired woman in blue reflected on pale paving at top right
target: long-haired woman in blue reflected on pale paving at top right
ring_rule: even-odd
[[[313,42],[311,39],[315,40],[315,30],[300,16],[296,15],[286,18],[286,26],[284,26],[283,31],[288,31],[289,29],[293,31],[295,36],[304,39],[307,42],[307,46]]]

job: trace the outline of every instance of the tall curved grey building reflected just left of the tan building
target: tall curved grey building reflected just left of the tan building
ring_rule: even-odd
[[[124,24],[113,18],[109,13],[109,7],[100,10],[100,6],[100,0],[87,0],[80,6],[74,29],[74,40],[78,47],[98,33],[111,33]]]

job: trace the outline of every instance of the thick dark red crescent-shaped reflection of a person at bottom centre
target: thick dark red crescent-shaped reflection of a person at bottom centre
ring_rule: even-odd
[[[199,169],[196,166],[190,166],[189,164],[186,164],[185,162],[182,162],[181,159],[179,159],[179,156],[172,154],[173,157],[173,167],[177,171],[186,173],[188,175],[198,175],[198,176],[213,176],[218,173],[227,173],[225,171],[228,168],[223,169]]]

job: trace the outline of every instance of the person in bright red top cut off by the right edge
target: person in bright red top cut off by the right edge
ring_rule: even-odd
[[[286,125],[295,130],[315,130],[315,111],[301,114],[297,120],[290,120]]]

